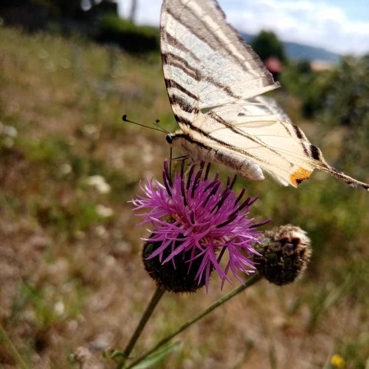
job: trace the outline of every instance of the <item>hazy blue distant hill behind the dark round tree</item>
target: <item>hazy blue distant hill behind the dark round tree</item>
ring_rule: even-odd
[[[246,43],[250,43],[255,37],[254,34],[240,32],[241,36],[244,38]],[[329,63],[339,62],[341,55],[336,53],[331,53],[320,47],[313,47],[308,45],[302,45],[296,42],[283,42],[284,50],[287,58],[292,60],[307,60],[309,62],[313,61],[323,61]]]

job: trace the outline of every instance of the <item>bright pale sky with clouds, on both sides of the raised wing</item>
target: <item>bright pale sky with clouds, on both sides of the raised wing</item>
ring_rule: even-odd
[[[200,1],[200,0],[199,0]],[[117,0],[126,17],[131,0]],[[161,0],[138,0],[136,23],[159,26]],[[339,54],[369,53],[369,0],[218,0],[238,31],[274,31],[282,41]]]

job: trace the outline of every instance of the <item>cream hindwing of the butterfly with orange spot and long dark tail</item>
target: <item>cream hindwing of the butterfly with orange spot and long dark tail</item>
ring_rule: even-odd
[[[199,114],[193,121],[192,134],[211,147],[215,156],[217,150],[237,153],[285,185],[297,186],[318,168],[354,187],[369,188],[328,165],[321,151],[270,98],[258,96]],[[247,171],[240,174],[249,177]]]

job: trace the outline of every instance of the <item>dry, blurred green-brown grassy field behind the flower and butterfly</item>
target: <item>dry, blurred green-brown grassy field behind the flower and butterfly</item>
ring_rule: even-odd
[[[3,27],[0,43],[0,366],[77,368],[70,355],[85,346],[110,368],[101,349],[123,350],[155,289],[140,260],[146,231],[127,201],[146,175],[161,177],[169,150],[162,134],[122,115],[176,127],[160,57]],[[298,99],[276,97],[297,121]],[[330,132],[300,125],[332,162]],[[94,175],[110,192],[89,184]],[[237,183],[260,196],[252,216],[307,230],[305,276],[283,288],[262,281],[218,308],[160,368],[333,368],[334,354],[347,369],[368,367],[369,197],[324,173],[307,182]],[[208,295],[164,296],[133,354],[231,289],[214,278]]]

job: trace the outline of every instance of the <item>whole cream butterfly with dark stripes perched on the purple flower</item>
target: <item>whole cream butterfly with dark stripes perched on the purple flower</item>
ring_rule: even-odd
[[[164,0],[160,43],[180,127],[167,136],[170,145],[195,162],[225,164],[248,180],[262,180],[266,171],[297,186],[318,168],[369,190],[328,165],[273,99],[257,96],[279,84],[215,0]]]

